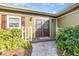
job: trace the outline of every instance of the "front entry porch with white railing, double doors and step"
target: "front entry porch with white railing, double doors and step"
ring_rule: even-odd
[[[34,26],[22,27],[22,38],[32,42],[53,41],[56,36],[56,19],[36,20]],[[29,22],[28,22],[29,24]],[[39,26],[40,25],[40,26]]]

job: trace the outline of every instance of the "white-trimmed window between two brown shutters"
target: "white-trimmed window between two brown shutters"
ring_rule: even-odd
[[[8,28],[21,28],[21,17],[7,16]]]

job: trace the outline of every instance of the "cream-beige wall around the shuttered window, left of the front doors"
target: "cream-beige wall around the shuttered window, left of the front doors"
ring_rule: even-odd
[[[0,29],[1,29],[1,15],[3,14],[7,16],[19,16],[19,17],[25,16],[25,27],[32,27],[33,38],[35,38],[34,17],[32,15],[18,14],[18,13],[11,13],[11,12],[0,12]],[[32,21],[30,21],[30,17],[32,17]]]

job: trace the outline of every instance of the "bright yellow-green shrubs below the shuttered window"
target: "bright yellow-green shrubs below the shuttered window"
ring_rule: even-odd
[[[0,50],[14,50],[19,47],[31,47],[30,41],[22,39],[19,29],[0,30]]]

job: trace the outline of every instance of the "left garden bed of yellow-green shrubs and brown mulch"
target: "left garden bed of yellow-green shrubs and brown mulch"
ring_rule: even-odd
[[[31,53],[31,41],[22,39],[19,29],[0,30],[1,56],[30,56]]]

